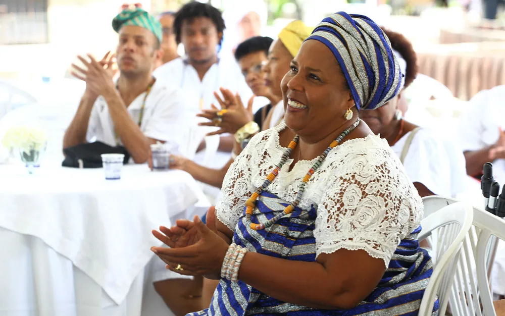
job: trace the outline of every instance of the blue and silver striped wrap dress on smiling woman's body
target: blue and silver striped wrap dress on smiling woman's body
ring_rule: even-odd
[[[252,214],[253,223],[265,222],[288,205],[274,194],[263,191]],[[286,260],[315,261],[316,240],[313,235],[317,210],[295,208],[265,230],[247,226],[244,214],[233,237],[249,251]],[[417,315],[421,298],[432,273],[428,253],[419,247],[418,227],[401,240],[388,269],[375,290],[357,307],[349,310],[320,310],[279,301],[239,281],[221,280],[208,309],[188,315]],[[434,314],[438,312],[438,301]]]

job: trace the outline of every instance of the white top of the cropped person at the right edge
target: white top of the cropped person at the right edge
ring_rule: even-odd
[[[468,111],[460,117],[459,142],[464,151],[493,145],[499,138],[498,128],[505,130],[505,85],[483,90],[469,101]],[[505,161],[493,162],[493,174],[505,183]]]

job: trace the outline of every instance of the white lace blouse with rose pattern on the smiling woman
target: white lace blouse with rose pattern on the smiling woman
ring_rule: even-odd
[[[245,201],[275,168],[286,148],[279,145],[285,123],[250,140],[228,170],[216,216],[234,231]],[[267,191],[292,202],[313,161],[288,160]],[[362,249],[389,265],[401,239],[423,218],[423,204],[398,157],[378,136],[348,140],[332,149],[311,177],[299,203],[317,206],[316,255]]]

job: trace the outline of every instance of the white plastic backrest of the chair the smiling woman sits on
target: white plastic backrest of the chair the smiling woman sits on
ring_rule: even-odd
[[[437,297],[440,304],[439,314],[445,314],[456,263],[472,220],[472,207],[456,202],[445,205],[421,222],[419,240],[426,239],[433,233],[436,233],[437,237],[431,241],[434,246],[434,268],[421,301],[419,315],[431,315]]]

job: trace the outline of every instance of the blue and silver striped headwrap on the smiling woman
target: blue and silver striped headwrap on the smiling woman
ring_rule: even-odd
[[[331,49],[358,110],[374,110],[401,91],[402,74],[391,44],[374,21],[337,12],[324,19],[307,38]]]

